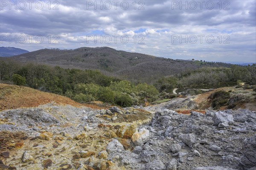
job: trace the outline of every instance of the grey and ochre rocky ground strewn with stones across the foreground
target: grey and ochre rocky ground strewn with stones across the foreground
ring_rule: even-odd
[[[170,106],[4,109],[0,169],[256,170],[256,111],[180,114]]]

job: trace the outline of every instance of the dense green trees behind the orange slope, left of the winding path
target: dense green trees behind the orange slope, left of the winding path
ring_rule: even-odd
[[[124,107],[154,101],[159,92],[153,85],[134,84],[108,77],[96,70],[64,69],[58,66],[0,62],[0,82],[25,85],[41,91],[64,95],[77,102],[94,100]]]

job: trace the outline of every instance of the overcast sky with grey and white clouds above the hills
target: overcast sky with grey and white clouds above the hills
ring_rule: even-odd
[[[0,46],[256,62],[255,0],[0,0]]]

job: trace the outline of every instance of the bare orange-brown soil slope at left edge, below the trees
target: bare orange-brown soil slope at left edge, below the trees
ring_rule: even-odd
[[[65,96],[42,92],[28,87],[0,83],[0,111],[37,107],[50,102],[56,102],[59,105],[82,106]]]

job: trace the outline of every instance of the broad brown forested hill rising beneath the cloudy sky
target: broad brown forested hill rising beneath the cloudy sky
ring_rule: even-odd
[[[41,49],[9,57],[18,62],[37,62],[62,68],[97,69],[112,71],[111,76],[150,82],[162,76],[184,74],[206,67],[230,67],[221,62],[174,60],[140,53],[117,51],[108,47],[82,47],[74,50]],[[108,73],[109,74],[109,73]],[[115,75],[113,75],[115,74]]]

